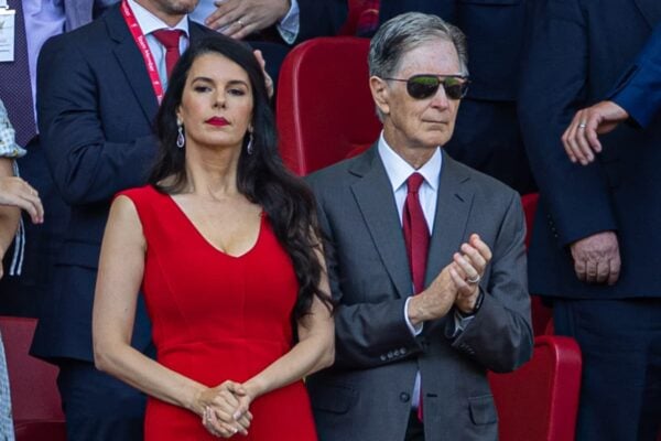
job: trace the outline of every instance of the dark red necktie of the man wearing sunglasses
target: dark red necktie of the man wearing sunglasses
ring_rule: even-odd
[[[415,288],[414,294],[424,289],[424,273],[426,269],[427,250],[430,248],[430,229],[427,228],[424,213],[420,205],[418,190],[424,182],[420,173],[413,173],[407,180],[409,191],[403,209],[404,240],[407,243],[407,255],[411,267],[411,279]]]

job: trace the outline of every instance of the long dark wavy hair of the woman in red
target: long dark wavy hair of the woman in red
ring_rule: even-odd
[[[299,295],[292,319],[297,321],[310,313],[314,297],[330,309],[329,293],[319,290],[319,280],[325,269],[317,258],[322,236],[316,220],[314,196],[307,185],[282,164],[277,150],[278,133],[264,75],[254,54],[245,43],[214,35],[192,44],[178,60],[156,116],[160,147],[149,183],[158,191],[169,194],[178,193],[186,186],[185,149],[176,147],[176,110],[182,103],[191,66],[199,56],[209,53],[237,63],[246,71],[250,80],[253,97],[252,154],[246,151],[248,137],[245,137],[239,157],[237,187],[250,202],[263,208],[278,241],[292,260],[299,281]]]

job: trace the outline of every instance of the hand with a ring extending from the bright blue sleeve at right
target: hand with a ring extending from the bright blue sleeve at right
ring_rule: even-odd
[[[613,101],[602,101],[578,110],[562,136],[562,143],[572,162],[587,165],[602,151],[597,135],[608,133],[629,114]]]

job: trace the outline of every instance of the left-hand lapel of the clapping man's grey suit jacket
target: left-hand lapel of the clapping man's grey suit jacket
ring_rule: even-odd
[[[362,178],[351,185],[351,191],[383,266],[398,294],[409,295],[412,282],[404,237],[392,186],[376,146],[361,157],[350,172]]]

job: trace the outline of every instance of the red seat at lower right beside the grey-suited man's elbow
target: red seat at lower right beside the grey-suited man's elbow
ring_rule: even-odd
[[[574,440],[581,368],[581,349],[573,338],[542,335],[523,367],[489,373],[500,441]]]

